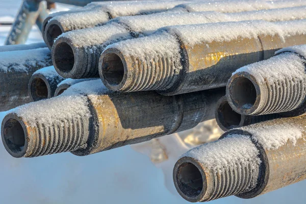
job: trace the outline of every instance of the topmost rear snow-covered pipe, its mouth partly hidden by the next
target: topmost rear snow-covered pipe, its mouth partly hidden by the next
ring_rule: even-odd
[[[57,15],[50,19],[44,30],[44,40],[51,49],[54,40],[62,33],[71,30],[92,28],[105,24],[117,16],[144,15],[158,13],[173,8],[186,1],[129,2],[120,4],[96,5],[90,10]]]

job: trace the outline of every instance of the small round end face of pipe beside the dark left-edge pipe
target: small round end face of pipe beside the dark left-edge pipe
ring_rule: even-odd
[[[42,74],[32,75],[29,81],[29,95],[32,101],[50,98],[50,85]]]

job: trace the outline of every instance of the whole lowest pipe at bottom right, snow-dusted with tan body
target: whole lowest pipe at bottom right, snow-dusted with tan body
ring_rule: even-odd
[[[189,150],[173,169],[176,190],[191,202],[252,198],[306,179],[305,119],[248,125]]]

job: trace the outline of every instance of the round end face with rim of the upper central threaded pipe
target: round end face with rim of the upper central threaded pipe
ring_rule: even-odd
[[[99,74],[104,85],[120,91],[127,82],[126,62],[118,49],[109,48],[99,59]]]

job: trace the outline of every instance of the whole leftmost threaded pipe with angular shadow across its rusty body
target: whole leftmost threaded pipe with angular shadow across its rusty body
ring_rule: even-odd
[[[84,92],[71,91],[75,87]],[[214,117],[224,91],[163,96],[112,92],[99,79],[81,82],[58,97],[14,109],[3,120],[2,138],[16,158],[65,151],[85,156],[191,129]]]

